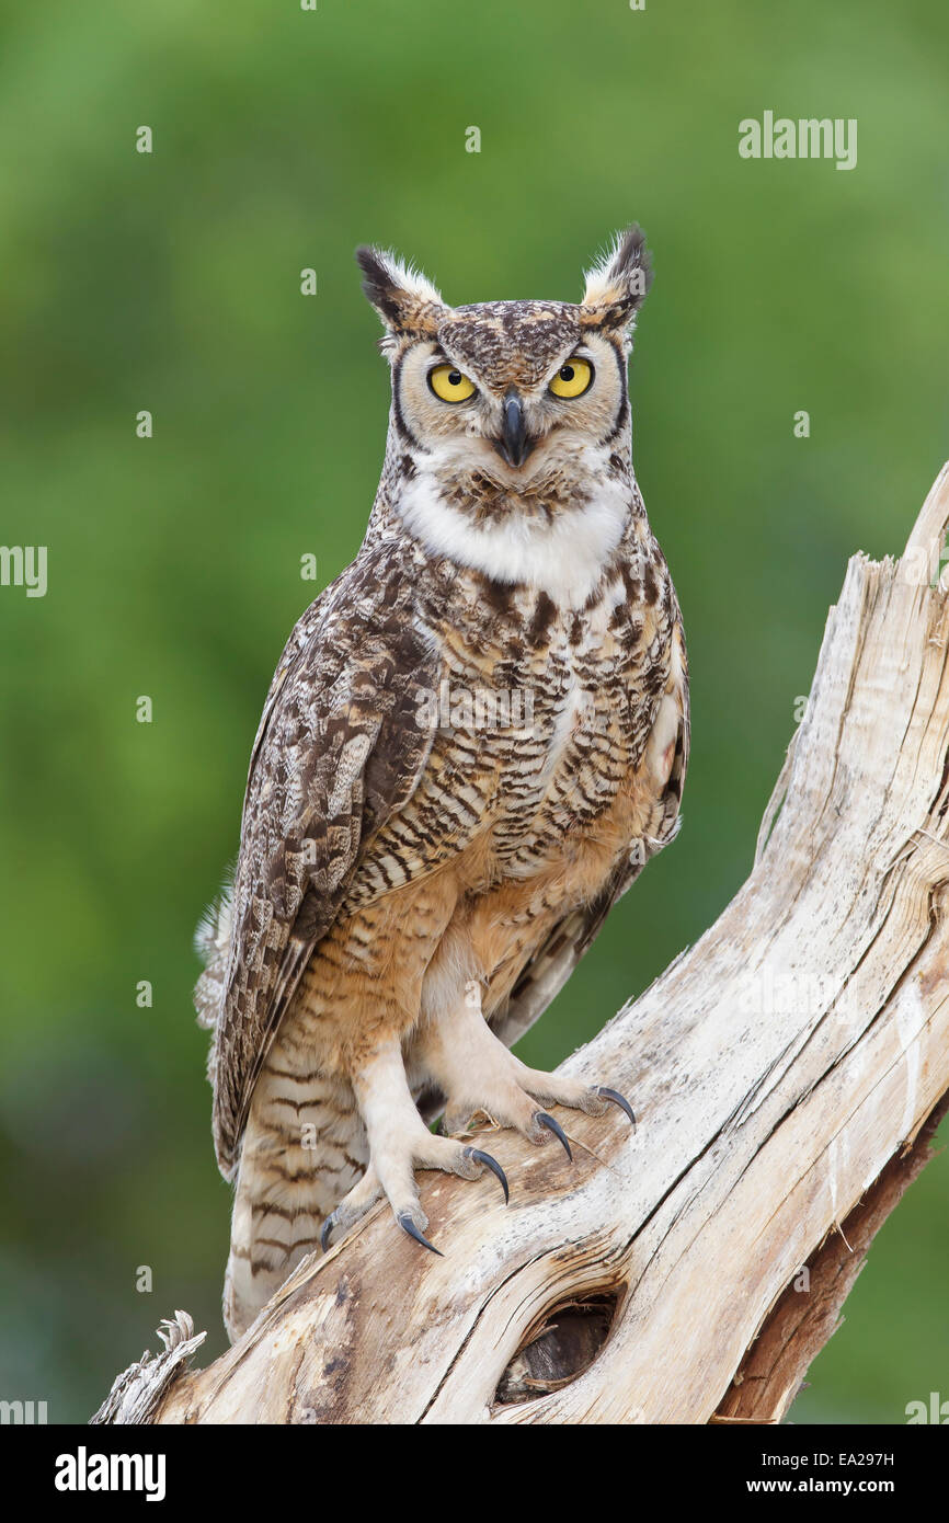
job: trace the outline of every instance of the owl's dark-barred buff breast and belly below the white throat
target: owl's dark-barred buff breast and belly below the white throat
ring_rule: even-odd
[[[643,757],[670,670],[663,599],[637,600],[617,577],[580,612],[536,599],[507,612],[442,624],[439,685],[419,710],[431,751],[363,862],[355,900],[462,854],[484,864],[477,891],[544,873],[594,838],[628,847],[635,810],[625,804],[635,795],[641,815]]]

